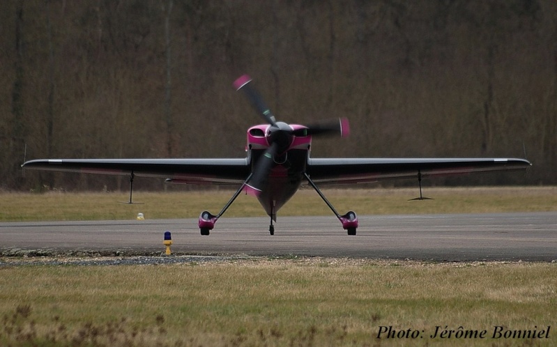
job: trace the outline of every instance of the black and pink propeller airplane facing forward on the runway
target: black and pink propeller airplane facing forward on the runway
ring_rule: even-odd
[[[422,198],[422,178],[460,173],[528,169],[528,160],[516,158],[313,158],[312,137],[349,134],[346,118],[310,125],[277,121],[254,88],[252,79],[243,75],[233,83],[243,91],[252,106],[266,121],[247,130],[245,158],[200,159],[43,159],[24,162],[24,169],[98,173],[130,177],[132,203],[135,177],[166,178],[167,183],[239,185],[220,213],[207,210],[199,215],[202,236],[208,236],[215,223],[241,192],[257,196],[270,217],[269,233],[274,235],[277,212],[296,193],[309,184],[339,219],[349,236],[356,235],[358,216],[349,211],[340,215],[318,185],[372,183],[377,180],[417,178]]]

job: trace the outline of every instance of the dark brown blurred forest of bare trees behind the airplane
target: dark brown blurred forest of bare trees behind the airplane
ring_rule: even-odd
[[[128,189],[24,158],[243,157],[244,73],[281,121],[349,118],[313,157],[526,153],[434,182],[557,183],[554,0],[3,0],[0,47],[0,190]]]

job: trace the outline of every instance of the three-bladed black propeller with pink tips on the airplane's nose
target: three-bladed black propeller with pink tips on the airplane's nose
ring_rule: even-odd
[[[293,130],[287,123],[277,122],[275,116],[273,116],[270,109],[265,105],[261,95],[259,95],[250,82],[252,82],[251,77],[243,75],[234,81],[233,86],[236,88],[236,91],[242,90],[245,93],[253,107],[270,125],[267,135],[270,146],[259,158],[254,167],[253,176],[250,178],[249,184],[247,184],[249,191],[257,195],[263,189],[264,183],[271,169],[273,169],[275,157],[288,150],[292,143],[293,136],[302,137],[310,135],[340,134],[342,137],[346,137],[350,133],[350,127],[348,119],[337,118],[313,123],[306,125],[305,128]]]

